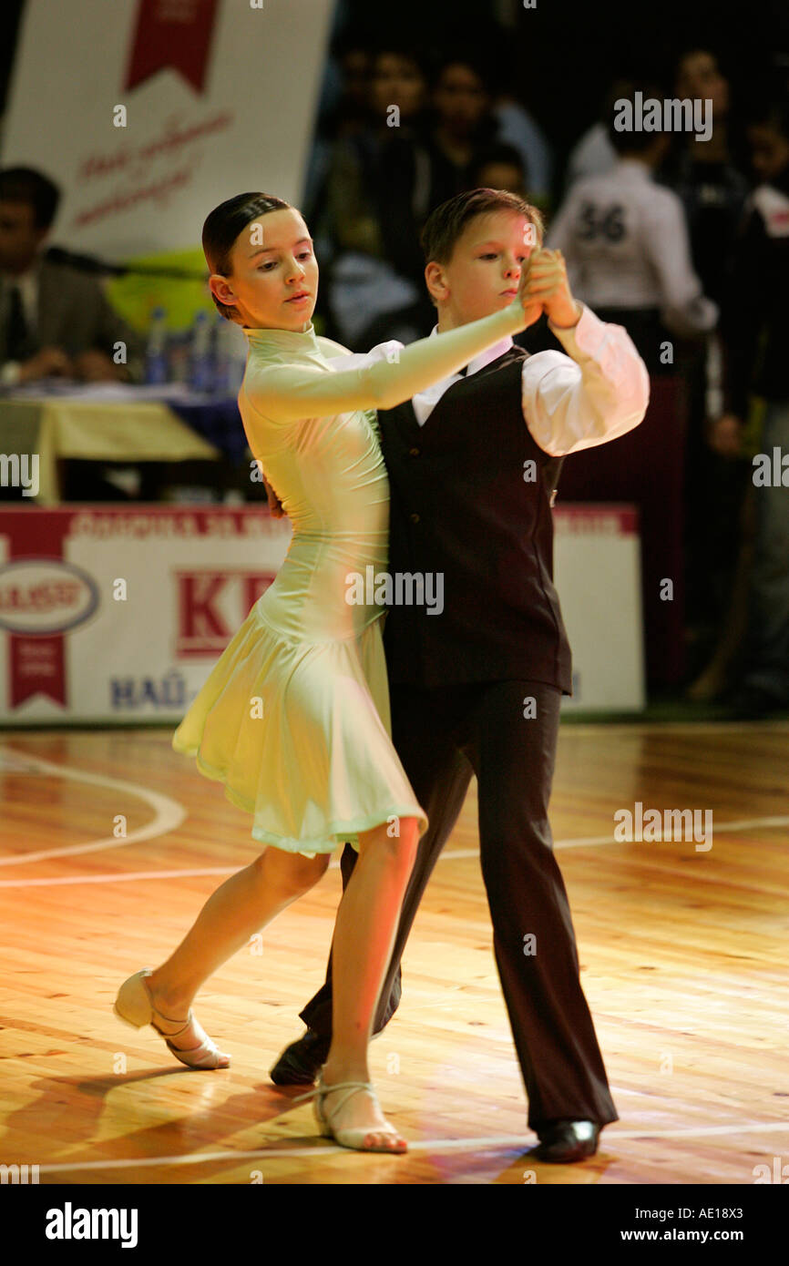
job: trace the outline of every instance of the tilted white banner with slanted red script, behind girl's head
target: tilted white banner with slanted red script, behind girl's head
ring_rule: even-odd
[[[247,190],[299,205],[333,0],[27,0],[3,165],[62,189],[53,239],[199,247]]]

